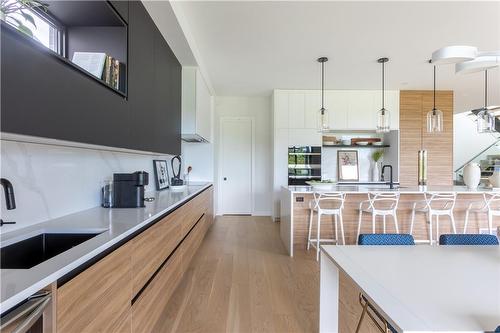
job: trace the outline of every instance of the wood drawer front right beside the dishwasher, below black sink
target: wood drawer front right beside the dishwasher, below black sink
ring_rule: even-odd
[[[129,244],[57,289],[58,332],[130,332]]]

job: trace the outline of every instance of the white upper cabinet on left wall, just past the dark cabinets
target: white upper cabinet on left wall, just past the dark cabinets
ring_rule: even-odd
[[[196,67],[182,68],[182,140],[210,142],[212,96]]]

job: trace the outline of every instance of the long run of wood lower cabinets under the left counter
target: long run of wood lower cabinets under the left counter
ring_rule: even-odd
[[[213,223],[206,189],[57,289],[57,331],[152,332]]]

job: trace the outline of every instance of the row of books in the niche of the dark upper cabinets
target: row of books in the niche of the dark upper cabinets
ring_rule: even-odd
[[[109,86],[125,91],[126,67],[118,59],[101,52],[75,52],[72,61]]]

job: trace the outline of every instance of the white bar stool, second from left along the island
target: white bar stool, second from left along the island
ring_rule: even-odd
[[[384,234],[386,232],[386,216],[392,216],[396,233],[399,233],[398,217],[396,215],[398,203],[399,193],[368,193],[368,200],[361,201],[359,203],[358,235],[356,236],[356,239],[359,239],[359,235],[361,233],[363,213],[372,214],[372,233],[375,233],[375,222],[377,216],[382,216]]]

